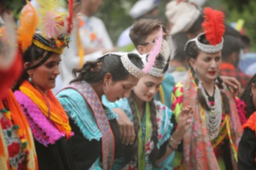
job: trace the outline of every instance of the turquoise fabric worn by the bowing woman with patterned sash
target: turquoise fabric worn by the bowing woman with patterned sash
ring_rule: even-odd
[[[81,132],[84,134],[84,138],[89,140],[96,139],[98,141],[102,138],[102,133],[97,127],[96,118],[91,111],[90,106],[85,102],[84,97],[79,94],[77,90],[67,88],[57,94],[56,97],[60,101],[64,111],[66,111],[67,116],[72,118],[80,128]],[[117,118],[117,115],[106,105],[104,111],[108,120]],[[92,167],[90,167],[90,170],[102,170],[100,157]]]

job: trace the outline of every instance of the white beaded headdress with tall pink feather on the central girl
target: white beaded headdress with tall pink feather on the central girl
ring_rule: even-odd
[[[173,58],[176,51],[176,46],[171,36],[163,39],[163,29],[160,26],[158,37],[154,40],[154,47],[149,54],[142,56],[143,63],[145,65],[143,69],[144,74],[149,74],[154,77],[164,77],[169,67],[170,59]],[[163,69],[155,68],[154,62],[158,58],[163,59]]]

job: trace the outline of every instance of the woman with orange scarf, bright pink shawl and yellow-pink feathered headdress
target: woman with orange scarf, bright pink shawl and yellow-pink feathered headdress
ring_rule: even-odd
[[[15,98],[32,129],[39,169],[72,170],[74,163],[67,139],[73,132],[66,112],[51,89],[55,88],[55,78],[60,74],[62,51],[70,41],[68,33],[73,15],[61,12],[63,9],[57,0],[37,2],[39,31],[30,31],[31,46],[22,54],[24,71],[15,85]],[[70,4],[69,11],[72,6]],[[26,41],[23,38],[23,42]]]

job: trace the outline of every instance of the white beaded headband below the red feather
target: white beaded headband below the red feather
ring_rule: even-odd
[[[199,36],[195,37],[192,40],[189,40],[189,42],[185,45],[185,50],[187,49],[190,42],[195,42],[197,48],[199,48],[201,51],[209,54],[217,53],[218,51],[221,51],[224,44],[224,39],[222,38],[222,42],[218,43],[217,45],[211,45],[211,44],[203,44],[199,41],[199,39],[204,36],[205,33],[201,33]]]

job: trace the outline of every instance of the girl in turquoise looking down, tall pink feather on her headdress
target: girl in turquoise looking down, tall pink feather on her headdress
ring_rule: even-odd
[[[169,60],[175,51],[173,43],[170,43],[172,41],[169,41],[171,37],[167,38],[168,41],[163,40],[161,32],[162,28],[160,27],[153,50],[149,54],[143,55],[143,62],[146,63],[143,69],[144,75],[131,91],[131,96],[119,99],[115,103],[109,103],[107,99],[104,99],[111,109],[119,108],[125,111],[125,114],[134,123],[138,140],[137,156],[128,163],[121,159],[114,161],[115,169],[162,167],[161,162],[177,149],[177,144],[183,139],[183,135],[189,127],[191,121],[189,118],[192,115],[191,108],[187,107],[183,109],[183,113],[179,117],[180,123],[177,131],[171,136],[172,111],[166,105],[154,100],[154,94],[160,88],[168,69]]]

